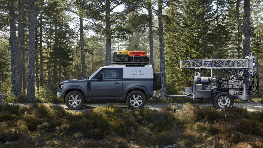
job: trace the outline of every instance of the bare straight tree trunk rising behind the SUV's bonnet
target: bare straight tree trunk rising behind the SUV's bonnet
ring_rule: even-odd
[[[80,30],[79,35],[80,35],[80,53],[81,53],[82,78],[83,79],[87,79],[87,76],[86,76],[86,65],[85,65],[85,51],[84,51],[82,14],[79,16],[79,30]]]

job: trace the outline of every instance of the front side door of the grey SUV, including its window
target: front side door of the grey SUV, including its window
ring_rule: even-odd
[[[122,100],[123,68],[104,68],[91,81],[92,101]]]

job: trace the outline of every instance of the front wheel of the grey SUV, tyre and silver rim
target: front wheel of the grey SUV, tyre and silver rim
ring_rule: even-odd
[[[73,96],[73,98],[72,98],[72,96]],[[76,105],[74,102],[73,102],[73,105],[71,105],[69,103],[69,99],[73,100],[78,105]],[[76,100],[74,100],[74,99],[76,99]],[[78,101],[79,99],[80,99],[80,102]],[[71,110],[81,109],[83,107],[84,103],[85,103],[85,98],[84,98],[83,94],[80,93],[79,91],[76,91],[76,90],[70,91],[65,97],[65,104]]]

